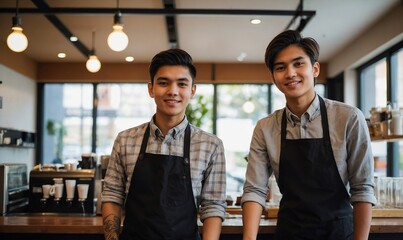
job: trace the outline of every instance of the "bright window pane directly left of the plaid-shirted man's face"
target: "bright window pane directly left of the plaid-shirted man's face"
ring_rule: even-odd
[[[155,103],[147,84],[98,84],[97,149],[109,155],[120,131],[150,121]]]

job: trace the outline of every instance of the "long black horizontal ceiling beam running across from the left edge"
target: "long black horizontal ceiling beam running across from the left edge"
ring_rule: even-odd
[[[314,16],[316,11],[253,10],[253,9],[185,9],[185,8],[121,8],[122,14],[143,15],[255,15],[255,16]],[[19,8],[20,14],[113,15],[116,8]],[[0,13],[15,13],[15,8],[0,8]]]

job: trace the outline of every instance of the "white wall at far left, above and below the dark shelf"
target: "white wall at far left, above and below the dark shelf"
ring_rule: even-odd
[[[36,131],[36,82],[0,64],[0,128]],[[0,163],[26,163],[32,169],[35,150],[32,148],[0,147]]]

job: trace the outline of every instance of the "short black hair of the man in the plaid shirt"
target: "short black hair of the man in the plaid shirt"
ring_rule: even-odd
[[[196,78],[196,67],[193,65],[193,60],[189,53],[179,48],[159,52],[153,57],[149,67],[151,84],[154,83],[154,76],[160,67],[175,65],[188,67],[193,84]]]

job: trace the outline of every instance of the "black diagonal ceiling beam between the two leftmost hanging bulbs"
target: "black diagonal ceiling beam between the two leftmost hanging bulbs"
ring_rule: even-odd
[[[43,1],[43,0],[32,0],[32,2],[38,7],[40,10],[48,10],[50,7],[49,5]],[[53,14],[44,14],[45,17],[67,38],[69,42],[70,37],[75,36],[67,27],[64,25],[62,21],[59,20],[58,17],[56,17]],[[77,40],[75,42],[71,42],[86,58],[91,53],[91,50],[88,49],[80,40]]]

